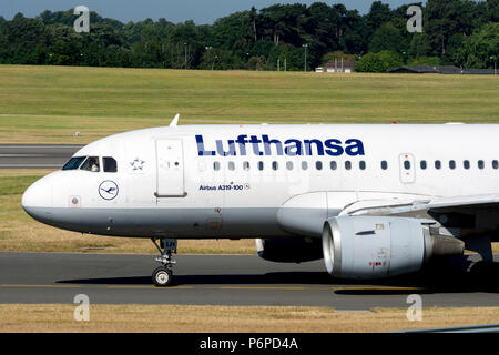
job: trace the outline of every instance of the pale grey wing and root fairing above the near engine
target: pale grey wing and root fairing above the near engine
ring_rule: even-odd
[[[499,194],[461,195],[451,197],[429,195],[371,195],[343,206],[329,207],[322,192],[297,195],[288,200],[277,215],[279,226],[291,233],[320,236],[324,220],[330,216],[397,216],[418,219],[435,227],[497,230],[499,226]],[[338,201],[339,194],[332,201]],[[381,197],[378,197],[381,196]],[[352,195],[347,195],[352,197]],[[498,234],[499,239],[499,234]]]

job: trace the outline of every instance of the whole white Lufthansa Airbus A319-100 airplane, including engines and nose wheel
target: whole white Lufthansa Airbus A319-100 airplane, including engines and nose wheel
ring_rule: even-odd
[[[177,122],[85,145],[29,186],[24,211],[63,230],[151,239],[156,286],[172,285],[180,239],[255,239],[265,260],[324,258],[350,280],[465,250],[493,264],[497,124]]]

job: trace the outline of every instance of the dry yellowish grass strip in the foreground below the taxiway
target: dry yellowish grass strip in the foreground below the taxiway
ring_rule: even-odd
[[[499,307],[424,308],[345,313],[327,307],[91,305],[89,322],[75,322],[77,305],[0,305],[1,332],[245,332],[345,333],[497,324]],[[167,316],[159,316],[167,315]]]

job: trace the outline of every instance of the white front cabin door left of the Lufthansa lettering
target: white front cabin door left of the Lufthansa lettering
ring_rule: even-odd
[[[182,140],[156,140],[156,197],[183,197],[184,161]]]

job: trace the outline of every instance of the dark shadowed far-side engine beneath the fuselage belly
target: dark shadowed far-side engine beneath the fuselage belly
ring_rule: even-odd
[[[323,258],[320,239],[281,237],[256,240],[258,256],[277,263],[304,263]]]

